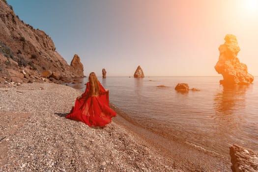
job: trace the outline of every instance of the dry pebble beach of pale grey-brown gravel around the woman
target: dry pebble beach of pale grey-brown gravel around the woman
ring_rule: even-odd
[[[0,87],[0,172],[182,172],[117,117],[104,128],[66,119],[81,93],[52,83]]]

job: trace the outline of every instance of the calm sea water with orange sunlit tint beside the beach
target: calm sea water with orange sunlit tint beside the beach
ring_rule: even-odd
[[[258,82],[227,88],[222,77],[99,78],[110,101],[146,129],[219,154],[231,144],[258,150]],[[70,85],[85,90],[83,84]],[[180,93],[177,83],[200,91]],[[164,85],[167,87],[157,87]]]

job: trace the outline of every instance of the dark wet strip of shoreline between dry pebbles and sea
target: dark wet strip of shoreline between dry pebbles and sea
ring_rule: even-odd
[[[161,156],[171,159],[173,166],[187,172],[229,172],[230,156],[222,157],[206,152],[199,147],[187,145],[185,143],[173,141],[172,138],[153,133],[115,107],[111,103],[111,108],[117,112],[114,122],[121,124],[140,139],[144,140],[148,146],[155,149]]]

